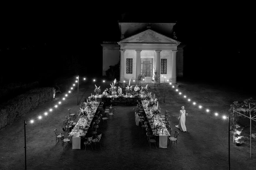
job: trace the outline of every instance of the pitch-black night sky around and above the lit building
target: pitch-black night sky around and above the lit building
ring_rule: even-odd
[[[16,81],[26,82],[53,75],[100,75],[100,43],[119,39],[117,21],[123,13],[125,20],[177,21],[174,30],[186,44],[185,79],[237,84],[245,83],[255,72],[255,15],[242,6],[185,9],[179,5],[157,12],[157,8],[88,8],[3,12],[2,83],[13,81],[14,76]]]

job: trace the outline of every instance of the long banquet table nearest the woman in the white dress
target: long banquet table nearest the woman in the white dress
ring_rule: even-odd
[[[144,109],[144,112],[146,114],[146,118],[148,122],[150,123],[150,127],[153,131],[153,135],[156,137],[159,137],[159,147],[167,148],[167,137],[170,137],[170,133],[167,130],[165,124],[162,122],[162,118],[160,116],[157,117],[158,120],[152,120],[152,114],[150,112],[150,108],[147,107],[148,101],[147,100],[142,100],[142,106]],[[162,126],[162,133],[159,133],[158,131],[155,131],[154,129],[154,124],[155,123],[160,123]]]

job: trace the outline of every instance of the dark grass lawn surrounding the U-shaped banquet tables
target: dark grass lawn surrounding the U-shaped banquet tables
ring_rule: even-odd
[[[109,88],[109,83],[101,85],[102,90]],[[72,150],[61,142],[55,144],[53,129],[62,129],[62,122],[68,115],[68,108],[72,112],[79,110],[77,97],[90,96],[94,93],[94,84],[79,85],[79,94],[71,94],[63,104],[49,116],[26,126],[27,136],[27,168],[28,169],[227,169],[228,168],[228,131],[227,121],[214,116],[227,114],[229,105],[233,101],[241,101],[249,97],[230,89],[213,87],[206,84],[191,84],[180,82],[180,91],[203,107],[211,110],[206,113],[178,95],[174,90],[166,91],[163,103],[163,90],[151,91],[159,100],[161,110],[168,110],[169,120],[174,131],[180,132],[177,147],[168,146],[167,149],[147,145],[146,134],[142,134],[141,127],[135,125],[134,106],[115,106],[113,119],[109,125],[104,125],[102,131],[102,148],[98,146],[92,151],[90,147],[84,150]],[[125,90],[123,89],[123,92]],[[1,157],[0,169],[24,169],[24,125],[23,121],[30,120],[44,113],[50,106],[54,106],[63,97],[57,94],[56,100],[45,103],[27,113],[15,123],[0,130]],[[82,101],[81,101],[82,102]],[[186,127],[188,132],[178,130],[178,115],[181,106],[185,106],[188,116]],[[198,106],[198,105],[197,105]],[[77,121],[77,120],[76,120]],[[256,122],[253,122],[252,133],[256,133]],[[249,137],[246,127],[242,135]],[[67,137],[67,133],[65,133]],[[252,140],[252,158],[249,157],[249,145],[240,147],[233,145],[230,138],[231,169],[255,169],[256,147]]]

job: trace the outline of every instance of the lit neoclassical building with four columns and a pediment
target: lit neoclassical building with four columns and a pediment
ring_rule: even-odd
[[[119,22],[118,42],[103,41],[102,75],[109,66],[120,61],[120,81],[136,80],[152,83],[157,70],[160,82],[176,83],[183,76],[183,47],[173,36],[176,23]],[[175,37],[175,36],[174,36]]]

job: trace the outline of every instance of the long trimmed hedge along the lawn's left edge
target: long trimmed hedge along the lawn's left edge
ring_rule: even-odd
[[[33,108],[53,99],[53,87],[34,88],[0,105],[0,129]]]

